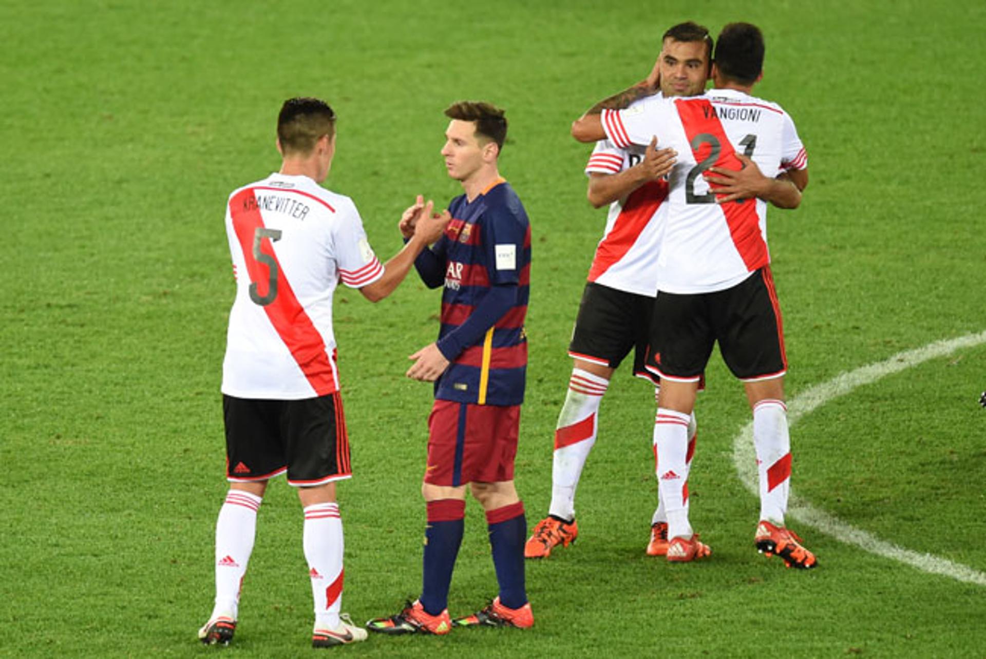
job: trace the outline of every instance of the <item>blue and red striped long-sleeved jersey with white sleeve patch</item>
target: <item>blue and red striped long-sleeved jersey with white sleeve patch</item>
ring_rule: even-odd
[[[449,213],[453,220],[445,235],[416,262],[426,283],[444,286],[438,347],[451,363],[435,382],[435,397],[520,405],[528,364],[528,214],[503,179],[471,202],[465,195],[456,197]],[[484,299],[487,304],[497,300],[502,313],[483,319],[488,315]],[[483,319],[481,326],[463,327],[473,314]]]

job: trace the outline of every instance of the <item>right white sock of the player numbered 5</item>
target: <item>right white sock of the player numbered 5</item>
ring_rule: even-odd
[[[315,503],[305,508],[305,559],[309,563],[315,622],[319,628],[339,626],[342,608],[342,518],[337,503]]]

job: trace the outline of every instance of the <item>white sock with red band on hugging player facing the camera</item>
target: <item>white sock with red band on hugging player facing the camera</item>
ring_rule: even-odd
[[[575,489],[589,452],[596,443],[597,413],[609,380],[581,368],[572,369],[565,404],[558,415],[551,464],[551,505],[548,512],[575,518]]]

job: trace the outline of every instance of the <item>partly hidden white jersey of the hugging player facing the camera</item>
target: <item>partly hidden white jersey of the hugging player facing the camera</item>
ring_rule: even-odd
[[[586,174],[617,174],[640,163],[646,147],[620,149],[610,140],[596,144]],[[651,181],[609,205],[606,228],[596,247],[589,281],[641,296],[658,294],[658,253],[667,214],[667,181]]]

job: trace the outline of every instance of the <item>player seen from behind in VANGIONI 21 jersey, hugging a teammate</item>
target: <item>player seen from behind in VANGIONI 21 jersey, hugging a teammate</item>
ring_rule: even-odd
[[[678,152],[670,174],[669,216],[658,259],[658,297],[648,367],[661,375],[654,438],[658,478],[669,521],[669,560],[708,555],[692,531],[682,500],[687,426],[698,381],[718,341],[742,380],[753,412],[760,482],[756,548],[789,566],[815,557],[784,525],[791,450],[784,374],[787,359],[780,307],[770,273],[766,203],[723,192],[710,169],[753,165],[783,204],[797,206],[808,184],[808,158],[791,117],[776,103],[749,95],[762,78],[763,35],[755,26],[726,26],[717,39],[715,89],[690,99],[648,100],[603,110],[572,126],[581,141],[608,137],[618,146],[655,135]],[[742,153],[744,158],[740,158]],[[732,179],[726,180],[732,184]]]

